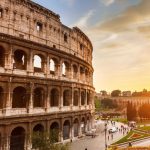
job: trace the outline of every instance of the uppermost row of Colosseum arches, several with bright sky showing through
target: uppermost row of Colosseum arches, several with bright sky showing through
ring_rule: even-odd
[[[42,51],[0,45],[0,68],[12,70],[13,74],[70,80],[92,85],[92,68],[77,61],[61,58]],[[1,69],[2,73],[4,70]]]

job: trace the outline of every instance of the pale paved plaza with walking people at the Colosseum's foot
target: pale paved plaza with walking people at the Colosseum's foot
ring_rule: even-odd
[[[121,123],[116,123],[116,127],[120,128]],[[108,125],[108,129],[111,128],[111,123]],[[123,125],[125,126],[125,125]],[[111,135],[109,135],[108,140],[108,133],[107,133],[107,144],[110,145],[111,143],[119,140],[123,136],[125,136],[125,133],[117,132],[113,134],[113,139],[111,139]],[[98,132],[98,135],[95,138],[92,137],[83,137],[82,139],[79,139],[77,141],[74,141],[71,144],[71,150],[105,150],[105,132],[104,132],[104,122],[101,123],[100,130]]]

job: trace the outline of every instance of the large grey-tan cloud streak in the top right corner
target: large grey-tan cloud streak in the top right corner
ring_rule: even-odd
[[[133,28],[134,26],[143,25],[149,22],[150,19],[150,1],[142,0],[141,3],[135,6],[130,6],[123,13],[114,17],[111,20],[100,22],[97,28],[105,31],[124,31]]]

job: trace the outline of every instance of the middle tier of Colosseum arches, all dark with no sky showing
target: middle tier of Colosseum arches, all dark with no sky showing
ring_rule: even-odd
[[[93,107],[93,91],[88,88],[21,83],[8,88],[5,83],[0,83],[1,115],[78,111]]]

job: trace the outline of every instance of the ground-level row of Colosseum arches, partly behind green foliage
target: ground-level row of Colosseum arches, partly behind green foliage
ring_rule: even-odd
[[[74,116],[73,118],[54,119],[22,124],[12,124],[5,129],[0,127],[0,149],[28,150],[37,149],[37,140],[45,136],[53,143],[72,141],[92,129],[91,115]]]

